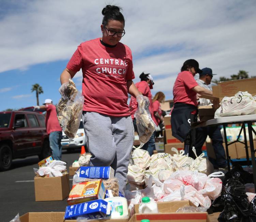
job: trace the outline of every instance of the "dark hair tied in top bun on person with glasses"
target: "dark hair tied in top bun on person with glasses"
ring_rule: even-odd
[[[124,26],[124,17],[120,12],[120,7],[116,5],[106,5],[106,7],[102,10],[102,15],[104,15],[102,19],[102,25],[107,25],[108,20],[117,20],[123,22]]]

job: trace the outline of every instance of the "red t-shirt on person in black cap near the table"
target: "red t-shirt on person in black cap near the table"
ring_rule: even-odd
[[[197,85],[198,83],[191,72],[180,72],[174,83],[172,91],[174,95],[174,103],[182,102],[197,106],[196,92],[192,90]]]

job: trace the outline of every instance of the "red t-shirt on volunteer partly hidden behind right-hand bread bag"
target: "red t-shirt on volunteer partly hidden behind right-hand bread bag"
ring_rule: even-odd
[[[149,98],[149,111],[151,116],[153,115],[153,109],[152,109],[152,94],[150,92],[149,89],[149,85],[146,81],[141,81],[141,82],[137,82],[135,84],[135,86],[137,87],[138,91],[142,93],[142,95],[147,96]],[[130,111],[131,111],[131,117],[134,120],[134,113],[137,110],[138,107],[138,103],[135,97],[131,96],[131,100],[130,100]]]

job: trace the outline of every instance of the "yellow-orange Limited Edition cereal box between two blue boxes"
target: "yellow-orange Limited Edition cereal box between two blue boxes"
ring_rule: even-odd
[[[75,184],[69,194],[67,203],[69,205],[104,199],[106,189],[102,179],[94,179],[79,184]]]

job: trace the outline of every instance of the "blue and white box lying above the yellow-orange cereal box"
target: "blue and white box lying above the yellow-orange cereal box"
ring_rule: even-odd
[[[77,171],[79,177],[109,179],[114,177],[114,169],[110,166],[80,166]]]

